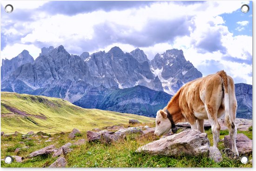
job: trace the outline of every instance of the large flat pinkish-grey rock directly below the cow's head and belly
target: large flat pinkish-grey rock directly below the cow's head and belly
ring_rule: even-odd
[[[136,152],[146,152],[153,155],[197,156],[209,153],[209,139],[207,133],[189,130],[159,139],[139,147]]]

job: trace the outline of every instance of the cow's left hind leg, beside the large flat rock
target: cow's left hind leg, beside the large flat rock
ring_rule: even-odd
[[[205,108],[206,108],[208,119],[212,128],[213,146],[217,147],[219,138],[220,138],[220,129],[221,129],[221,126],[217,119],[217,111],[211,105],[206,105]]]

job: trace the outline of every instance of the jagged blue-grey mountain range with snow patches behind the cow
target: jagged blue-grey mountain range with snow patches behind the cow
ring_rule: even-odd
[[[82,108],[155,117],[186,82],[202,77],[182,50],[167,50],[149,61],[135,49],[119,47],[80,56],[61,45],[42,48],[35,60],[24,50],[3,59],[1,91],[62,98]],[[252,118],[252,85],[235,85],[237,117]]]

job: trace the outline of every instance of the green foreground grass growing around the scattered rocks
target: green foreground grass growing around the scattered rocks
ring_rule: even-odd
[[[144,126],[145,124],[137,124],[136,126]],[[152,123],[150,127],[154,126]],[[125,125],[128,127],[128,125]],[[212,145],[211,129],[205,130]],[[34,152],[45,146],[54,144],[57,148],[63,146],[67,142],[74,143],[78,139],[87,139],[85,132],[81,132],[81,136],[76,137],[74,140],[68,139],[69,133],[55,133],[52,134],[53,142],[45,142],[47,139],[39,137],[32,137],[32,140],[21,139],[21,135],[1,137],[1,158],[7,155],[14,155],[16,147],[21,148],[19,156],[26,157],[29,153]],[[220,138],[227,134],[222,131]],[[248,135],[252,135],[248,131]],[[60,136],[60,137],[59,137]],[[59,138],[57,138],[59,137]],[[41,141],[39,141],[41,140]],[[152,136],[140,137],[140,134],[130,134],[126,139],[121,139],[112,144],[102,144],[100,141],[86,142],[83,145],[72,145],[72,152],[68,153],[65,158],[67,160],[67,167],[252,167],[252,164],[242,164],[240,160],[229,159],[224,154],[222,155],[223,161],[215,163],[207,156],[178,156],[168,157],[163,155],[152,156],[145,153],[136,153],[135,150],[143,146],[153,139]],[[22,141],[25,144],[20,144]],[[10,145],[10,146],[5,146]],[[12,147],[13,146],[13,147]],[[28,148],[24,148],[29,146]],[[23,147],[23,148],[22,148]],[[14,149],[15,148],[15,149]],[[218,144],[221,150],[224,148],[223,143]],[[1,161],[2,167],[48,167],[57,158],[52,158],[51,155],[37,156],[34,158],[27,158],[23,163],[13,162],[12,164],[5,164]],[[249,156],[252,159],[252,156]]]

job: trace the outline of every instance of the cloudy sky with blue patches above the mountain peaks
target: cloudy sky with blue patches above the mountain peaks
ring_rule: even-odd
[[[225,70],[235,83],[252,84],[252,2],[2,1],[1,58],[24,49],[36,58],[59,45],[76,55],[140,48],[149,60],[181,49],[203,76]]]

